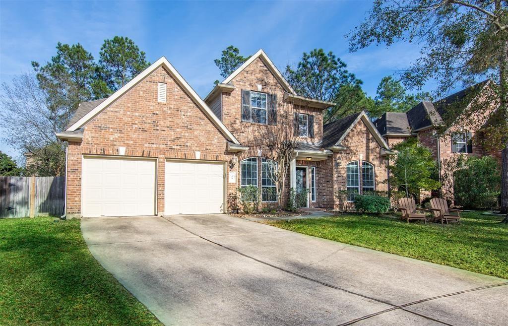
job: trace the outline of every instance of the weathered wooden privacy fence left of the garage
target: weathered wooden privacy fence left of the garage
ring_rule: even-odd
[[[0,218],[60,216],[65,177],[0,176]]]

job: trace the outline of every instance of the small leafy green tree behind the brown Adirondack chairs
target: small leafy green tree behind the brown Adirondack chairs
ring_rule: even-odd
[[[419,194],[420,190],[433,190],[440,183],[432,178],[436,161],[428,148],[417,138],[409,138],[393,147],[397,152],[391,157],[390,185],[409,195]]]

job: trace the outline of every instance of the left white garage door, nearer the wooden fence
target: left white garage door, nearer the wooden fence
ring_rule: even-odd
[[[155,160],[84,157],[83,216],[155,214]]]

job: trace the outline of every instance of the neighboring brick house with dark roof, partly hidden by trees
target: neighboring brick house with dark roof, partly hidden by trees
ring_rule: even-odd
[[[489,91],[488,85],[488,81],[484,81],[434,103],[420,102],[406,113],[386,112],[374,121],[374,125],[390,146],[409,137],[418,137],[437,160],[440,176],[443,175],[443,162],[455,155],[492,155],[500,161],[500,151],[492,152],[482,145],[481,129],[488,123],[489,114],[464,118],[460,117],[459,113],[468,112],[468,106],[478,105],[478,99],[484,92]],[[465,109],[461,109],[462,107]],[[455,115],[459,116],[451,117],[451,114],[448,114],[450,112],[447,112],[450,108],[453,108],[452,112],[457,112]],[[492,109],[495,109],[494,105]],[[452,118],[467,120],[469,125],[465,127],[463,123],[452,123],[443,132],[444,119]],[[442,189],[442,191],[445,197],[453,198],[451,194],[453,189]]]

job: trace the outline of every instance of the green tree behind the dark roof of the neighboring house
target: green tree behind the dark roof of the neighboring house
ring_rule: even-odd
[[[408,94],[399,80],[386,76],[377,86],[374,106],[369,111],[369,116],[378,118],[385,112],[407,112],[418,103],[430,100],[430,93]]]

